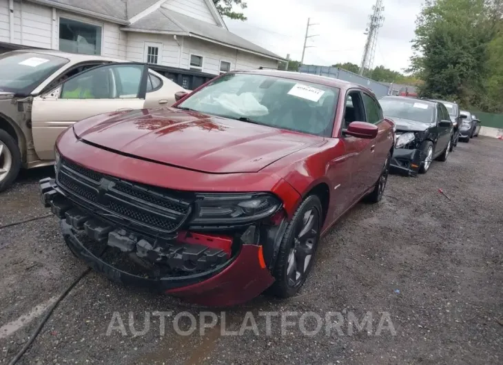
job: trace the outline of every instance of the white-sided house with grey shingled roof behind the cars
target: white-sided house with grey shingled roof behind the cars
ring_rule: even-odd
[[[229,32],[212,0],[0,0],[0,42],[209,74],[283,61]]]

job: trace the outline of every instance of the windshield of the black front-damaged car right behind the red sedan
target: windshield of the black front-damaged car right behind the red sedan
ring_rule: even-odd
[[[385,116],[422,123],[433,121],[434,104],[409,98],[382,98],[379,103]]]

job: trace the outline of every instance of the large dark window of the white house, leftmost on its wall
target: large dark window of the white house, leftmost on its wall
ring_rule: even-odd
[[[101,54],[99,25],[59,18],[59,50],[72,53]]]

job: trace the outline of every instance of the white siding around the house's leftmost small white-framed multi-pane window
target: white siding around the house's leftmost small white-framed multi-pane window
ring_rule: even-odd
[[[127,35],[127,61],[145,62],[145,42],[162,43],[163,52],[159,64],[179,67],[180,48],[171,35],[133,33]]]

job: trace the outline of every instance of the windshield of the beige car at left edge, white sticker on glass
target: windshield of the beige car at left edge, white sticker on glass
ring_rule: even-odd
[[[0,91],[29,94],[68,59],[32,52],[0,55]]]

